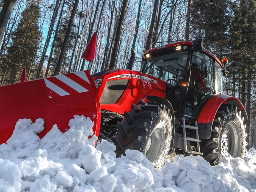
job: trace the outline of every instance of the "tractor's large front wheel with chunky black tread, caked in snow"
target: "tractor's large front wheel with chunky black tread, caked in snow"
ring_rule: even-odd
[[[154,167],[162,168],[173,146],[172,114],[159,103],[132,104],[131,110],[124,113],[123,121],[118,123],[116,135],[112,137],[117,157],[125,155],[127,149],[134,149],[145,154]]]

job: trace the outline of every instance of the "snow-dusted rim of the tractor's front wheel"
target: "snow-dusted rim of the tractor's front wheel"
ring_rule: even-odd
[[[162,128],[155,128],[146,143],[145,155],[150,162],[153,162],[161,152],[166,139],[166,133]]]

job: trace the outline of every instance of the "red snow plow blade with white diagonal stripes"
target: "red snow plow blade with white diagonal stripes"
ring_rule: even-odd
[[[0,144],[6,143],[19,119],[35,122],[44,119],[39,137],[57,124],[61,132],[69,129],[74,115],[84,115],[94,122],[96,136],[100,127],[100,104],[89,71],[78,71],[39,80],[0,87]]]

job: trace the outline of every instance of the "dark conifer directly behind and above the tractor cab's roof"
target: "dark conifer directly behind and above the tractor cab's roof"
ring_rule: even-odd
[[[190,39],[203,38],[204,47],[220,58],[229,39],[230,3],[229,0],[206,0],[192,5]]]

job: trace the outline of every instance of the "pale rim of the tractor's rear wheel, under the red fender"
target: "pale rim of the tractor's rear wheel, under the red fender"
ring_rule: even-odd
[[[242,136],[235,121],[229,121],[221,135],[220,149],[222,156],[240,156],[242,150]]]

